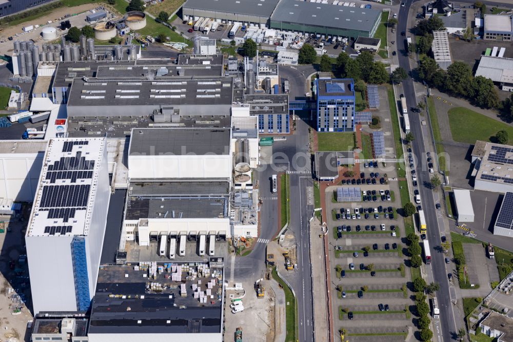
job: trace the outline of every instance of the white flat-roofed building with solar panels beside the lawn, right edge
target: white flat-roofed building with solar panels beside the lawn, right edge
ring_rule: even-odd
[[[478,140],[471,156],[475,189],[513,192],[513,146]]]

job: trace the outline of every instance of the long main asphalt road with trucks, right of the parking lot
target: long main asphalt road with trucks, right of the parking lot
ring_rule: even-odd
[[[399,9],[399,24],[398,29],[396,30],[396,41],[404,42],[405,37],[401,36],[402,31],[407,32],[407,20],[401,20],[401,18],[407,18],[409,8],[411,6],[411,2],[407,2],[405,7],[400,7]],[[399,45],[401,47],[404,46]],[[404,51],[399,51],[398,59],[399,65],[403,67],[408,74],[411,74],[410,61],[407,54],[403,53]],[[415,93],[415,89],[413,87],[413,80],[411,78],[406,79],[403,82],[403,93],[406,98],[406,103],[408,108],[417,107],[417,97]],[[415,140],[412,142],[412,150],[415,156],[419,158],[421,161],[425,161],[426,159],[426,148],[424,146],[424,140],[430,139],[430,137],[423,137],[422,133],[422,125],[421,119],[415,113],[410,114],[410,131]],[[422,164],[420,164],[421,166]],[[409,177],[409,175],[408,175]],[[433,197],[433,192],[431,189],[426,187],[424,184],[428,184],[430,182],[430,174],[427,168],[418,167],[417,168],[417,178],[419,183],[419,192],[422,198],[422,208],[424,210],[426,216],[426,223],[429,229],[427,230],[427,238],[431,241],[431,265],[428,268],[431,268],[433,273],[433,279],[435,282],[440,284],[440,290],[437,292],[437,299],[440,307],[440,327],[442,331],[442,337],[445,342],[451,340],[454,336],[456,328],[454,314],[452,313],[452,308],[450,307],[452,304],[450,302],[449,295],[449,282],[447,279],[447,273],[445,269],[445,260],[444,254],[439,253],[435,250],[435,246],[439,246],[441,243],[440,240],[440,226],[438,224],[437,211],[435,208],[435,198]],[[437,332],[433,332],[435,335]]]

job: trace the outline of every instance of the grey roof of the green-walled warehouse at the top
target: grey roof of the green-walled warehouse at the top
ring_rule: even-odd
[[[305,25],[371,31],[381,11],[370,8],[281,0],[271,15],[271,21]]]

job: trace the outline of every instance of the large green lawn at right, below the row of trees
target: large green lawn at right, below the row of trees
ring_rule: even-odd
[[[473,144],[476,140],[490,141],[498,131],[508,132],[508,145],[513,144],[513,127],[500,121],[488,118],[473,110],[462,107],[451,108],[448,111],[452,139]]]

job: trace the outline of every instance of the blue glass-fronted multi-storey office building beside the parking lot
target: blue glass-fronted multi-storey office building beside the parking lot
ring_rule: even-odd
[[[352,79],[317,79],[317,130],[352,132],[354,127],[354,82]]]

